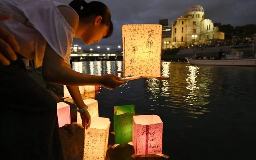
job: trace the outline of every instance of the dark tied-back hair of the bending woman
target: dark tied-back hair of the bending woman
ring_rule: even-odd
[[[109,31],[103,38],[108,38],[112,35],[113,23],[111,21],[109,8],[104,3],[99,1],[87,3],[85,0],[73,0],[70,2],[69,6],[71,6],[77,12],[79,21],[85,20],[90,16],[101,16],[101,23],[109,26]]]

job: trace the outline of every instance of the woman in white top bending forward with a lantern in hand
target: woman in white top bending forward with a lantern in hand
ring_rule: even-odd
[[[102,2],[84,0],[73,0],[69,5],[53,0],[0,0],[0,10],[13,14],[13,19],[1,21],[0,26],[13,34],[20,46],[17,60],[0,66],[0,100],[4,106],[0,112],[4,122],[1,158],[63,160],[56,100],[24,71],[22,59],[34,60],[36,68],[42,66],[46,82],[67,85],[80,109],[83,126],[89,128],[91,116],[78,86],[114,89],[123,81],[114,74],[75,72],[70,65],[70,48],[73,38],[89,45],[111,36],[109,8]]]

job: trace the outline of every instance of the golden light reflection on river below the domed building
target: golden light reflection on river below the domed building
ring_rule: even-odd
[[[150,99],[163,99],[161,106],[173,108],[173,113],[187,112],[198,115],[209,112],[204,105],[210,103],[210,68],[201,69],[184,63],[162,62],[163,76],[169,80],[146,79]],[[196,116],[189,116],[197,118]]]

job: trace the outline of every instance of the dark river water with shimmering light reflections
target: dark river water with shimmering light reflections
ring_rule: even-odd
[[[73,62],[94,75],[117,74],[123,61]],[[163,154],[172,160],[256,159],[256,68],[162,62],[162,76],[125,82],[96,95],[99,116],[113,122],[114,106],[163,121]],[[110,131],[113,131],[111,123]]]

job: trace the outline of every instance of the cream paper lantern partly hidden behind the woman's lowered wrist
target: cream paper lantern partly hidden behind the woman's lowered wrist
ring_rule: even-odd
[[[90,113],[91,117],[99,117],[98,101],[92,98],[83,101],[88,106],[88,112]],[[77,112],[77,123],[82,124],[82,119],[79,112]]]

